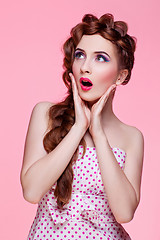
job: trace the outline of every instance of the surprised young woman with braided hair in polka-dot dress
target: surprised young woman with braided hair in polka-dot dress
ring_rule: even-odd
[[[144,138],[112,102],[130,79],[135,40],[113,15],[87,14],[63,49],[68,96],[36,104],[26,137],[21,184],[38,203],[28,240],[129,240],[121,224],[140,201]]]

